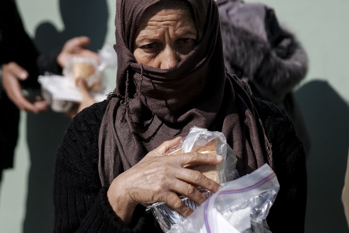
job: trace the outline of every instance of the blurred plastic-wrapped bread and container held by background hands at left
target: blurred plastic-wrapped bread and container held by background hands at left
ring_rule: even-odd
[[[42,96],[54,112],[67,112],[82,100],[77,79],[86,81],[90,94],[98,102],[111,92],[106,87],[104,70],[117,67],[117,55],[113,46],[107,44],[98,52],[100,63],[87,57],[72,57],[63,69],[63,75],[46,74],[38,77]]]

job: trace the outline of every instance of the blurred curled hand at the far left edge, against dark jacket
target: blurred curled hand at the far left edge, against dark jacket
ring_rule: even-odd
[[[16,104],[18,109],[39,113],[48,108],[48,103],[41,97],[29,100],[23,95],[19,82],[26,80],[28,76],[27,70],[15,62],[10,62],[2,67],[2,86],[8,98]]]

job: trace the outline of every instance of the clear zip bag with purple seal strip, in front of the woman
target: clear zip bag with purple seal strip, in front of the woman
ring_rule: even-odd
[[[227,182],[168,233],[269,233],[266,217],[279,191],[268,165]]]

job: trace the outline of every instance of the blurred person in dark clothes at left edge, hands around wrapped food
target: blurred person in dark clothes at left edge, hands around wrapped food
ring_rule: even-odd
[[[98,60],[95,52],[85,49],[89,42],[88,37],[74,37],[61,50],[39,54],[25,32],[15,0],[0,2],[0,181],[2,170],[13,167],[19,110],[39,113],[48,108],[41,97],[25,96],[22,88],[38,88],[37,77],[44,71],[60,74],[72,56]],[[84,90],[83,83],[79,86]],[[91,98],[87,94],[86,98]]]

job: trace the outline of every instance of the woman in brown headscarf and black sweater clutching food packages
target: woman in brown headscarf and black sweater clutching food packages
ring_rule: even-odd
[[[202,203],[196,186],[220,185],[187,166],[221,156],[162,156],[193,126],[224,133],[240,175],[268,163],[280,191],[268,216],[274,232],[303,232],[306,200],[302,144],[285,113],[254,99],[225,72],[214,0],[117,0],[116,88],[79,113],[58,150],[56,232],[160,232],[146,203]]]

